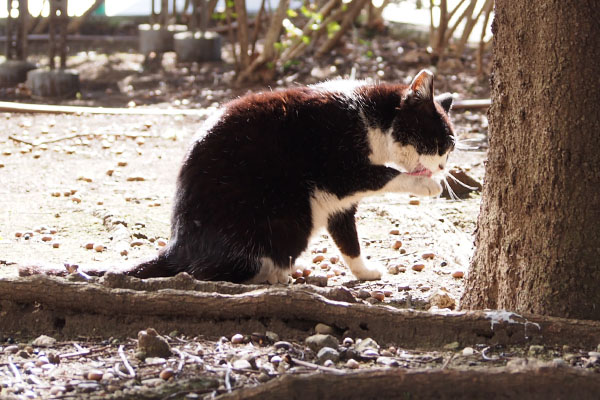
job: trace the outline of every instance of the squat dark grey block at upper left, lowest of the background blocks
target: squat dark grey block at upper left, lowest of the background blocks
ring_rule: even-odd
[[[79,73],[67,69],[34,69],[27,73],[27,87],[39,97],[74,97],[79,92]]]

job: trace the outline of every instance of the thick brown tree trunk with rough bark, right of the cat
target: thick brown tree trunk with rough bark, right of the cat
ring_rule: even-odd
[[[496,0],[490,149],[462,307],[600,320],[600,8]]]

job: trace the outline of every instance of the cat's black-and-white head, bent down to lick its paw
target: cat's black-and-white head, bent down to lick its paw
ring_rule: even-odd
[[[431,176],[446,168],[455,136],[448,113],[449,93],[434,97],[433,74],[422,70],[404,90],[392,127],[398,146],[394,160],[415,175]]]

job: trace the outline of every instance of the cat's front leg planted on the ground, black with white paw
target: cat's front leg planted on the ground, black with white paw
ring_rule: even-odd
[[[327,230],[354,276],[367,281],[380,279],[381,271],[375,267],[365,265],[363,258],[360,256],[360,243],[358,242],[354,220],[355,213],[356,205],[345,211],[330,215],[327,220]]]

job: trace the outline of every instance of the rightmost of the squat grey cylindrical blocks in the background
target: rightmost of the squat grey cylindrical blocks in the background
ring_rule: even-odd
[[[221,61],[221,36],[216,32],[180,32],[174,35],[179,62]]]

